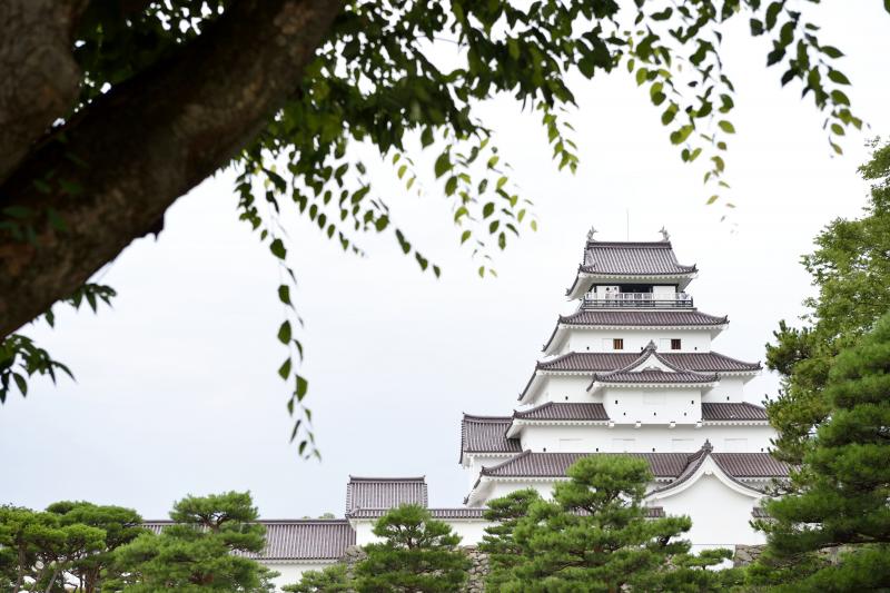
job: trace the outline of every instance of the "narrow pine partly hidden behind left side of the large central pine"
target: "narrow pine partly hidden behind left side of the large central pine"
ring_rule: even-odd
[[[517,490],[488,501],[483,517],[493,525],[485,528],[479,552],[488,554],[490,572],[485,585],[490,591],[496,591],[510,579],[511,569],[522,562],[522,548],[516,545],[514,531],[528,515],[528,507],[537,501],[541,501],[541,495],[533,488]]]

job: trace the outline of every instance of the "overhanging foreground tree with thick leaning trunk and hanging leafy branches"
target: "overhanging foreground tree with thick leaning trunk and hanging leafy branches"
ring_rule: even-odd
[[[716,201],[734,87],[722,30],[745,19],[770,42],[767,63],[824,115],[829,141],[851,111],[840,49],[809,18],[819,0],[9,0],[0,4],[0,399],[33,374],[65,370],[24,324],[63,302],[113,296],[90,278],[134,239],[159,233],[167,208],[222,168],[237,176],[237,215],[280,260],[278,330],[289,356],[288,403],[301,432],[307,383],[293,309],[281,208],[294,205],[346,250],[364,231],[392,233],[424,270],[439,273],[394,224],[354,150],[369,146],[413,190],[424,178],[452,206],[475,255],[534,228],[527,197],[505,175],[481,102],[508,93],[541,118],[558,168],[577,159],[567,80],[626,71],[649,95],[681,158],[703,165]],[[439,48],[448,47],[449,59]],[[454,49],[457,51],[453,51]],[[781,73],[779,73],[781,72]],[[415,139],[436,158],[423,175]],[[268,205],[268,208],[267,208]],[[729,204],[728,204],[729,205]]]

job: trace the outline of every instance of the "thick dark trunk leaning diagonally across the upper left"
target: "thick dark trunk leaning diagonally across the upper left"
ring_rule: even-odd
[[[0,213],[27,208],[37,231],[36,243],[0,234],[0,337],[70,295],[254,139],[340,9],[236,1],[171,59],[97,99],[65,142],[31,154],[0,186]],[[63,230],[47,224],[57,216]]]

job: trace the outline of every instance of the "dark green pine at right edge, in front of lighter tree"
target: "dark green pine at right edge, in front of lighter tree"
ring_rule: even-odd
[[[802,563],[813,567],[812,553],[842,546],[837,563],[780,589],[890,587],[890,314],[841,352],[822,397],[830,418],[807,444],[798,492],[764,505],[764,563],[783,579],[800,576]]]

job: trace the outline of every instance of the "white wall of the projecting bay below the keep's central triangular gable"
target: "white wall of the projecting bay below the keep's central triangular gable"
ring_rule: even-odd
[[[696,423],[702,416],[702,388],[629,389],[604,387],[603,405],[609,417],[624,423]]]

